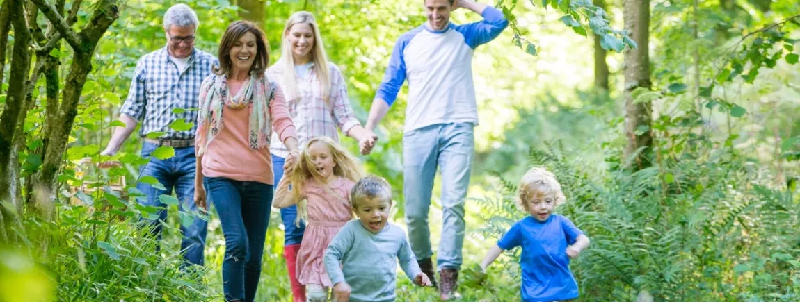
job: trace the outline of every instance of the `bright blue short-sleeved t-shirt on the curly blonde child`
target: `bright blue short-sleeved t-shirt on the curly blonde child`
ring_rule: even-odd
[[[561,215],[547,221],[525,217],[498,241],[502,249],[522,246],[522,300],[526,302],[569,300],[578,297],[578,283],[570,272],[566,247],[583,232]]]

